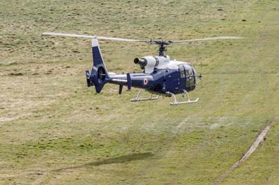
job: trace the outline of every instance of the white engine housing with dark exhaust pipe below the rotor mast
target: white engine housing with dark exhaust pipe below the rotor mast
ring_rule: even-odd
[[[145,73],[153,72],[156,65],[158,65],[158,58],[153,56],[144,56],[143,58],[135,58],[134,63],[139,64]]]

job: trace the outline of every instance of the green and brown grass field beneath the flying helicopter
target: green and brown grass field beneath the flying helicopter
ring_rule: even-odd
[[[266,139],[221,184],[279,184],[279,1],[1,1],[0,184],[216,184],[259,132]],[[169,47],[204,76],[191,97],[132,103],[86,87],[90,40],[221,35],[245,40]],[[157,47],[104,42],[109,71],[140,68]],[[146,94],[147,95],[147,94]]]

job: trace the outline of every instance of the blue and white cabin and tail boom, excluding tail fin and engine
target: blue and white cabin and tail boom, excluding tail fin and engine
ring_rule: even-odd
[[[110,80],[108,83],[119,84],[122,86],[130,86],[135,88],[143,88],[150,93],[164,95],[167,92],[179,94],[183,90],[188,92],[194,90],[197,86],[196,72],[194,67],[189,63],[181,61],[168,61],[164,63],[164,67],[160,65],[154,68],[150,74],[145,72],[130,73],[130,81],[127,74],[116,74],[109,72]]]

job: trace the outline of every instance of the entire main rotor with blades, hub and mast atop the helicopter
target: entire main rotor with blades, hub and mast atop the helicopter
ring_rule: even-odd
[[[211,41],[211,40],[228,40],[228,39],[243,39],[243,37],[234,37],[234,36],[222,36],[222,37],[213,37],[213,38],[197,38],[190,40],[136,40],[129,38],[112,38],[112,37],[103,37],[98,35],[79,35],[79,34],[69,34],[69,33],[54,33],[54,32],[45,32],[43,35],[54,35],[54,36],[63,36],[63,37],[75,37],[75,38],[91,38],[98,40],[113,40],[113,41],[123,41],[123,42],[145,42],[151,45],[159,45],[159,56],[164,56],[164,51],[166,51],[165,45],[185,45],[189,47],[201,47],[206,45],[193,45],[190,42],[199,42],[199,41]]]

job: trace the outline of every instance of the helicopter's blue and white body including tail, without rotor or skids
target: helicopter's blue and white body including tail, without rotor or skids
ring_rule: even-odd
[[[119,94],[123,86],[142,88],[157,95],[172,95],[189,92],[197,86],[195,69],[189,63],[171,61],[169,56],[144,56],[135,58],[143,72],[116,74],[107,72],[100,53],[97,39],[92,40],[93,67],[91,74],[86,71],[87,86],[95,86],[100,93],[105,83],[119,85]]]

